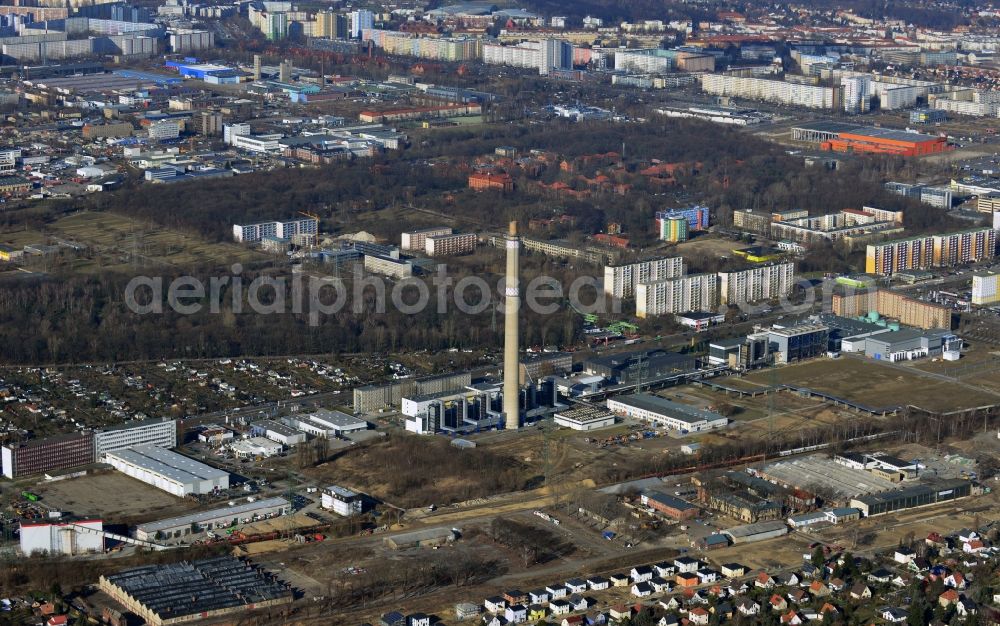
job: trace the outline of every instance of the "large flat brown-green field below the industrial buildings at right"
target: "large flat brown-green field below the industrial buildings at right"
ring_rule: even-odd
[[[914,405],[929,411],[953,411],[996,404],[1000,396],[928,376],[912,367],[894,367],[854,358],[824,359],[789,365],[776,372],[744,376],[744,382],[769,386],[772,375],[782,384],[808,387],[873,407]]]

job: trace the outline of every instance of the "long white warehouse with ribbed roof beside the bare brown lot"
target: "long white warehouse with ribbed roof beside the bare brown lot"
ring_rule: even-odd
[[[104,455],[104,460],[126,476],[179,498],[188,494],[229,489],[229,472],[157,446],[147,445],[108,452]]]

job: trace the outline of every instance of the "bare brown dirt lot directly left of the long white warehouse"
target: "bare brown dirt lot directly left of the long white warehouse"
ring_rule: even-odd
[[[43,483],[34,492],[52,510],[107,517],[116,523],[180,515],[197,506],[117,472]]]

